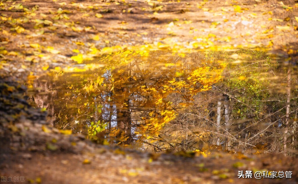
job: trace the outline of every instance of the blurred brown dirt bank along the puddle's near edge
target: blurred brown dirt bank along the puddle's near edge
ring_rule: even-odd
[[[53,128],[44,132],[38,123],[19,124],[18,129],[21,135],[12,135],[10,145],[1,141],[0,174],[23,176],[29,183],[295,183],[298,177],[297,158],[281,154],[154,154],[95,145],[81,135],[64,135]],[[246,170],[293,174],[238,179],[238,171]]]

